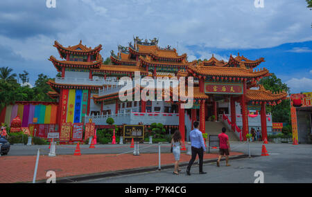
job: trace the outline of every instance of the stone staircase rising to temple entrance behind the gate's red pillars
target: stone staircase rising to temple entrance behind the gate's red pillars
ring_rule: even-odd
[[[223,124],[223,122],[211,122],[211,121],[206,121],[206,133],[208,135],[218,135],[222,132],[222,127],[226,126]],[[227,131],[225,132],[229,136],[229,141],[234,141],[234,142],[239,142],[239,138],[235,135],[233,131]]]

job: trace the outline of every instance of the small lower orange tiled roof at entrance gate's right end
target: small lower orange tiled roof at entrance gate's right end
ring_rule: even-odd
[[[279,93],[272,93],[266,90],[262,85],[259,85],[258,90],[248,89],[246,93],[246,99],[250,101],[266,101],[275,102],[278,100],[284,100],[287,97],[285,91]]]

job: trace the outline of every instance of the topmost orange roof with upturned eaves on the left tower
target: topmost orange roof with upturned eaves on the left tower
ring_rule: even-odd
[[[99,44],[95,48],[87,47],[80,43],[75,46],[68,46],[64,47],[62,44],[59,44],[58,41],[54,41],[54,45],[56,48],[58,48],[58,53],[60,53],[60,56],[63,58],[66,58],[66,55],[64,54],[73,54],[73,55],[94,55],[96,53],[99,53],[100,50],[102,50],[102,45]]]

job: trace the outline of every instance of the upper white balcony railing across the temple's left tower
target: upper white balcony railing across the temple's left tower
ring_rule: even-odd
[[[103,77],[98,77],[95,79],[76,78],[76,77],[56,77],[55,82],[58,84],[95,85],[95,86],[118,85],[118,81],[116,79],[104,79]]]

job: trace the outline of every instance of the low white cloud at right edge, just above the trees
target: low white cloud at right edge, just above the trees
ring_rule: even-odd
[[[310,71],[311,73],[311,71]],[[288,87],[291,88],[291,93],[310,92],[312,91],[312,79],[292,78],[286,82]]]

